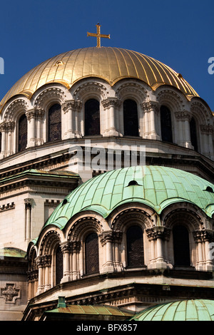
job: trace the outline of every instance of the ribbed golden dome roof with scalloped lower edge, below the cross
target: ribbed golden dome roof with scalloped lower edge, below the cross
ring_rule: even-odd
[[[82,78],[103,78],[111,86],[123,78],[137,78],[153,90],[161,85],[174,86],[186,96],[198,96],[185,79],[156,59],[123,48],[91,47],[61,53],[26,73],[6,93],[0,108],[13,96],[27,98],[47,83],[61,83],[71,88]]]

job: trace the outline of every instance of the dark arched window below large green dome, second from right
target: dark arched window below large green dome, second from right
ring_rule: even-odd
[[[143,231],[139,226],[131,226],[126,232],[128,267],[142,267],[144,265]]]

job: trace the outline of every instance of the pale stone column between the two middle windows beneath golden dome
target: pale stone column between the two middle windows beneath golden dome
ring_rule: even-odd
[[[102,100],[102,105],[105,113],[108,113],[108,136],[118,136],[119,132],[116,129],[116,106],[118,104],[118,98],[107,98]],[[106,115],[107,116],[107,115]]]

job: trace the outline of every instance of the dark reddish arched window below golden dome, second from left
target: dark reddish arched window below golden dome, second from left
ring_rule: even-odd
[[[49,142],[61,140],[61,105],[56,103],[49,108]]]

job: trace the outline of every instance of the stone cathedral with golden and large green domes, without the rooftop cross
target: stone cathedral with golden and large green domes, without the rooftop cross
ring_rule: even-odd
[[[122,48],[61,53],[1,100],[0,134],[3,319],[58,297],[213,299],[213,113],[180,73]]]

